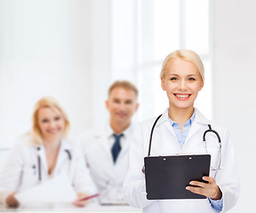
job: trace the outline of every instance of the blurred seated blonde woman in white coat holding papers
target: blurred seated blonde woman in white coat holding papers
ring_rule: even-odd
[[[16,193],[60,174],[66,174],[74,186],[76,206],[84,206],[86,201],[80,200],[96,193],[84,157],[66,139],[68,129],[68,116],[56,100],[37,101],[31,132],[14,144],[0,173],[1,203],[17,207]]]

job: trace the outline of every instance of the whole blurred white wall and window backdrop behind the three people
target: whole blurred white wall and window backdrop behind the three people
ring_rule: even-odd
[[[252,209],[255,7],[249,0],[0,0],[0,161],[30,129],[43,96],[64,106],[71,137],[108,119],[104,101],[117,79],[139,88],[134,122],[162,114],[161,64],[191,49],[205,67],[196,107],[227,126],[236,146],[242,194],[230,212]]]

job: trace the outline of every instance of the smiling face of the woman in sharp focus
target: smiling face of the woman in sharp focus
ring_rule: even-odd
[[[161,78],[161,85],[167,93],[170,108],[191,109],[204,83],[194,64],[183,59],[171,59],[164,78]]]

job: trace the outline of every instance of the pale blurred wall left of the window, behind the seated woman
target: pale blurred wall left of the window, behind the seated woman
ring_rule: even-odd
[[[64,106],[71,136],[107,117],[110,2],[0,0],[0,147],[29,130],[43,96]]]

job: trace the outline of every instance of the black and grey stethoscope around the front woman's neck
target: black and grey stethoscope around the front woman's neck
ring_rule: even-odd
[[[155,126],[156,126],[156,122],[159,120],[159,118],[162,116],[162,114],[160,114],[157,118],[156,118],[156,121],[154,122],[153,126],[152,126],[152,129],[151,129],[151,132],[150,132],[150,138],[149,138],[149,146],[148,146],[148,157],[150,156],[150,152],[151,152],[151,144],[152,144],[152,137],[153,137],[153,132],[154,132],[154,129],[155,129]],[[208,127],[209,127],[209,130],[205,130],[204,131],[204,135],[203,135],[203,143],[204,143],[204,149],[205,149],[205,152],[206,154],[208,154],[208,150],[207,150],[207,146],[206,146],[206,134],[208,132],[212,132],[216,135],[216,137],[218,138],[218,144],[219,144],[219,165],[218,165],[218,168],[217,169],[214,169],[212,166],[211,166],[211,170],[221,170],[221,139],[220,139],[220,135],[219,133],[216,131],[216,130],[212,130],[212,126],[210,124],[208,124]],[[142,173],[145,174],[145,166],[142,167]]]

